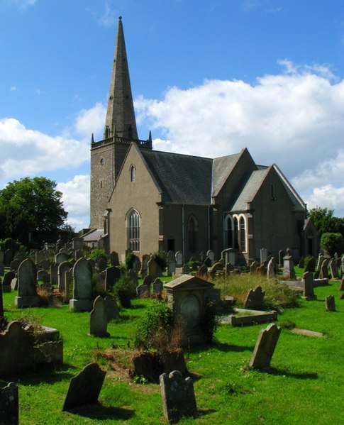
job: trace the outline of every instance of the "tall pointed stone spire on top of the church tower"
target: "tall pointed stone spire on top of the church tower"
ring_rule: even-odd
[[[104,139],[115,136],[115,127],[117,136],[138,140],[121,16],[118,19]]]

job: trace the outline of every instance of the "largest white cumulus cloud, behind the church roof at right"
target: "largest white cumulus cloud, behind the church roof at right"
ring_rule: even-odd
[[[158,150],[216,158],[247,147],[257,163],[276,162],[302,197],[328,206],[315,189],[343,186],[344,81],[326,65],[279,63],[281,73],[254,85],[206,80],[172,87],[161,100],[141,96],[138,123],[157,133]],[[335,214],[343,212],[338,204]]]

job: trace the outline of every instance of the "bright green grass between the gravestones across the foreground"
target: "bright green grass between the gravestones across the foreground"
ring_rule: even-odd
[[[323,332],[325,338],[299,336],[282,329],[272,357],[270,372],[248,368],[260,329],[266,325],[232,328],[218,326],[213,346],[186,351],[187,367],[194,374],[198,407],[196,419],[180,424],[344,424],[344,300],[339,282],[315,288],[316,301],[300,302],[285,309],[279,321]],[[326,295],[335,295],[337,311],[325,310]],[[88,336],[89,314],[60,309],[13,308],[14,293],[4,294],[5,315],[15,319],[30,313],[40,323],[60,330],[65,364],[38,368],[11,376],[19,386],[20,423],[26,424],[161,424],[162,402],[158,385],[138,385],[111,372],[105,360],[99,363],[108,374],[100,404],[74,412],[62,412],[70,378],[94,361],[94,349],[104,351],[113,343],[128,350],[150,300],[136,299],[132,309],[121,309],[121,318],[108,326],[110,338]],[[278,323],[278,322],[277,322]]]

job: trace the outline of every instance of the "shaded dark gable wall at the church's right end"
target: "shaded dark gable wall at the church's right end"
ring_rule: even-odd
[[[294,211],[294,205],[274,169],[267,175],[251,207],[253,241],[250,242],[255,253],[250,253],[250,258],[259,260],[260,248],[267,248],[267,252],[277,258],[279,250],[287,248],[291,248],[294,255],[299,255],[298,225],[304,219],[304,212]]]

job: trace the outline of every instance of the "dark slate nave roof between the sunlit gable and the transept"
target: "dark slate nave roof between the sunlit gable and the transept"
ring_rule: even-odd
[[[213,160],[157,150],[140,150],[165,202],[209,205]]]

